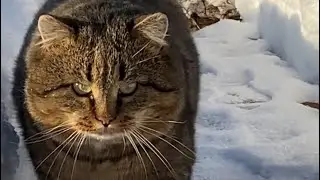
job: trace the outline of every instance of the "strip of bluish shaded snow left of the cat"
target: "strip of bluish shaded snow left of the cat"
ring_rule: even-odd
[[[16,139],[13,138],[14,136],[8,138],[10,141],[1,142],[1,145],[6,147],[7,151],[12,151],[12,153],[17,152],[19,154],[18,161],[20,163],[15,170],[16,173],[13,180],[36,180],[30,158],[26,152],[25,144],[22,141],[21,129],[14,116],[9,93],[12,86],[10,79],[12,77],[14,59],[19,52],[23,37],[31,23],[33,14],[42,3],[43,0],[1,1],[1,106],[4,105],[6,108],[6,111],[1,111],[1,117],[8,116],[8,121],[15,129],[15,132],[11,133],[19,135],[19,149],[8,148],[10,147],[8,144],[12,143],[12,140],[16,141]],[[3,136],[3,128],[8,128],[8,131],[11,129],[9,124],[6,124],[5,121],[7,121],[5,118],[1,118],[1,136]],[[3,155],[3,151],[1,151],[1,156]],[[10,159],[14,159],[14,157]],[[1,157],[1,162],[2,160]],[[1,177],[5,177],[5,173],[8,172],[2,172]]]

